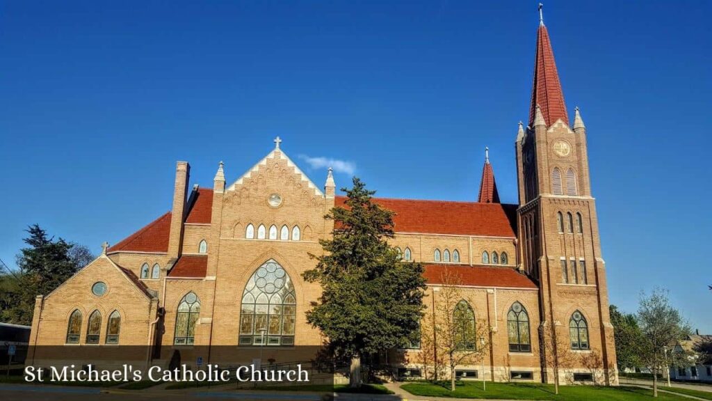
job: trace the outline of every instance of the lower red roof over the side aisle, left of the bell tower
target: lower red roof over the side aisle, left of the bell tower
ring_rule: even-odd
[[[459,276],[461,285],[497,288],[537,288],[527,276],[513,268],[463,265],[425,265],[423,276],[428,284],[442,284],[443,273]]]

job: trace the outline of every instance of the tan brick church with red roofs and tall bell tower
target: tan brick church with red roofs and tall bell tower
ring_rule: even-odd
[[[461,278],[473,324],[491,329],[484,371],[478,362],[458,375],[552,382],[558,366],[570,382],[615,385],[587,131],[578,108],[569,118],[543,21],[529,114],[513,136],[518,204],[500,203],[488,158],[477,201],[375,201],[396,213],[392,245],[402,258],[425,265],[426,302],[448,269]],[[219,163],[211,188],[191,186],[190,166],[179,161],[167,213],[105,244],[96,260],[37,296],[30,344],[184,352],[224,345],[260,349],[265,359],[320,345],[323,336],[305,320],[320,288],[301,275],[315,265],[309,254],[323,253],[318,240],[332,235],[333,221],[323,216],[345,198],[330,171],[323,186],[300,171],[279,138],[249,171],[228,172]],[[555,347],[580,355],[578,362],[553,363]],[[422,374],[415,365],[395,368]]]

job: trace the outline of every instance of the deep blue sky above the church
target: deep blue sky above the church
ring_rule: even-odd
[[[536,2],[383,3],[4,1],[0,258],[14,265],[31,223],[98,252],[169,209],[175,161],[211,186],[224,160],[232,181],[275,136],[318,185],[325,168],[303,158],[350,163],[402,198],[476,199],[489,146],[515,203]],[[664,286],[707,333],[711,14],[708,1],[544,8],[588,128],[610,300],[633,311]]]

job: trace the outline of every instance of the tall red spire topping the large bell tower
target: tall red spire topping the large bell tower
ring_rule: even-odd
[[[529,126],[533,127],[536,106],[541,108],[547,126],[552,125],[557,119],[569,124],[566,113],[564,93],[561,91],[559,73],[556,71],[554,51],[551,48],[549,33],[540,20],[536,37],[536,59],[534,64],[534,83],[532,86],[532,103],[529,108]]]

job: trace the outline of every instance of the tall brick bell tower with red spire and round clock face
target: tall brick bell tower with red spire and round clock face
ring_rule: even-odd
[[[553,382],[553,367],[562,371],[553,358],[567,352],[568,363],[581,359],[575,365],[590,365],[586,358],[600,361],[595,365],[604,373],[601,380],[617,384],[586,127],[578,108],[570,126],[541,5],[529,123],[519,123],[515,153],[520,269],[540,288],[543,380]],[[586,330],[579,330],[581,317]]]

